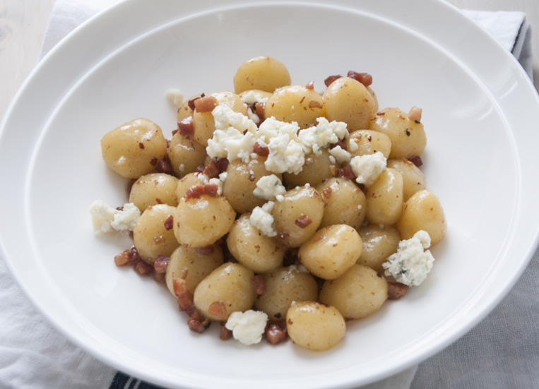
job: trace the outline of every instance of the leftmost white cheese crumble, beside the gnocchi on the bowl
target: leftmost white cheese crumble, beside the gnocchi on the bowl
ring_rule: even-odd
[[[117,210],[96,200],[90,205],[90,215],[95,232],[133,231],[141,211],[134,203],[127,203],[122,210]]]

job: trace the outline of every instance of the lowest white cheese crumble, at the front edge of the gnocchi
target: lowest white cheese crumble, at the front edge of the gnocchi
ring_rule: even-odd
[[[268,315],[261,311],[232,312],[225,327],[232,331],[235,340],[244,345],[255,345],[262,340]]]

